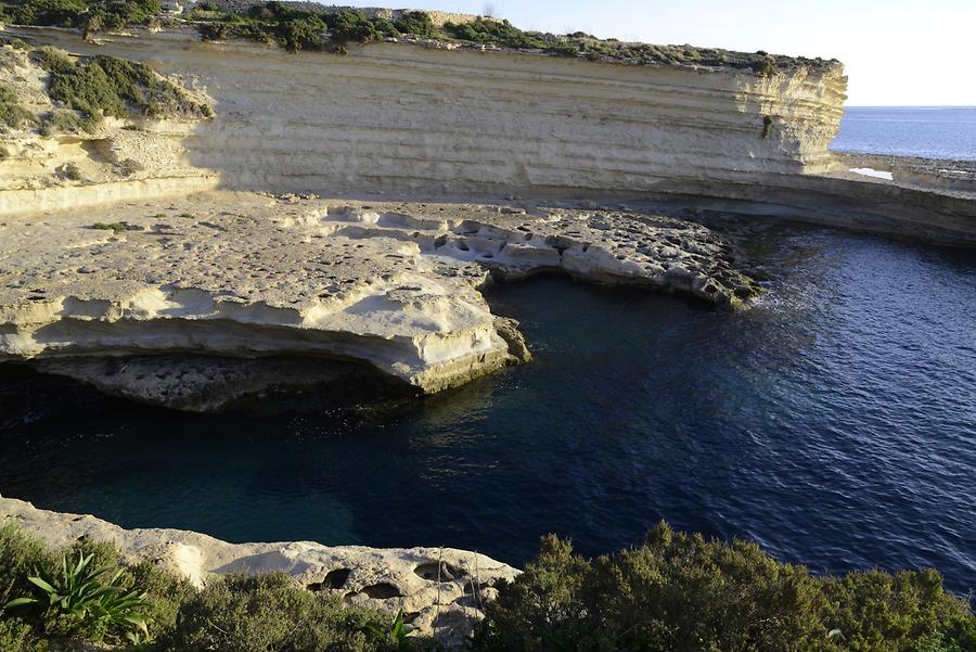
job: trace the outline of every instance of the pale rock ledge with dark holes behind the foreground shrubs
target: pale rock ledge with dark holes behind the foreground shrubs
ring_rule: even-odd
[[[81,538],[115,545],[132,562],[159,567],[203,586],[228,573],[283,572],[298,586],[341,595],[349,604],[396,613],[423,635],[458,645],[480,621],[500,580],[518,571],[484,554],[452,548],[376,549],[288,544],[228,544],[180,529],[123,529],[91,515],[39,510],[0,497],[0,526],[16,523],[49,547]]]

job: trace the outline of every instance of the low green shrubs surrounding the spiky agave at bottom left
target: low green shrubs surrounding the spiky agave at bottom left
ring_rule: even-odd
[[[125,227],[101,228],[115,231],[119,226]],[[128,615],[144,622],[153,639],[126,648],[140,652],[391,652],[408,645],[433,649],[427,639],[407,638],[409,627],[401,616],[346,606],[341,597],[303,589],[284,574],[219,577],[197,590],[152,562],[124,563],[121,553],[107,544],[80,540],[63,554],[90,561],[76,573],[77,563],[65,565],[61,558],[55,561],[43,546],[16,526],[0,528],[0,604],[7,604],[11,597],[28,595],[47,600],[48,592],[41,592],[38,585],[28,580],[29,576],[39,575],[59,595],[74,596],[68,602],[78,608],[62,609],[57,601],[56,608],[44,610],[31,609],[34,602],[0,609],[3,652],[117,645],[126,630],[116,627],[114,618],[127,615],[123,610],[126,605],[118,604],[118,599],[126,596],[140,598],[138,613]],[[91,575],[95,567],[105,571],[98,574],[93,584],[74,581],[72,590],[64,590],[70,583],[62,581],[60,576],[67,573],[77,579]],[[114,588],[106,592],[106,585]],[[99,611],[98,606],[106,595],[116,599],[106,605],[114,613],[107,619],[105,610]]]

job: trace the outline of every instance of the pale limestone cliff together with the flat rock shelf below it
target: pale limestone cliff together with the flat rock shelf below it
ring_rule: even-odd
[[[197,27],[4,29],[23,41],[3,47],[0,84],[50,117],[4,139],[0,360],[194,410],[335,389],[350,362],[433,393],[528,359],[480,294],[492,279],[558,271],[747,306],[759,285],[735,243],[682,212],[976,243],[964,193],[858,180],[829,152],[836,62],[415,38],[288,52]],[[74,106],[52,94],[57,71],[92,66],[136,74],[143,90],[119,85],[140,101],[167,89],[169,110],[52,128]]]

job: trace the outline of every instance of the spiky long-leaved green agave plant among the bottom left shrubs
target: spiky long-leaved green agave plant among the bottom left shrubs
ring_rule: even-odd
[[[34,606],[52,610],[73,616],[79,627],[97,624],[131,643],[149,641],[149,623],[143,614],[145,593],[127,591],[121,586],[121,570],[103,581],[111,568],[93,567],[92,559],[92,555],[79,551],[78,561],[69,563],[65,553],[61,558],[60,573],[41,570],[37,576],[27,578],[34,585],[36,596],[11,600],[3,609]]]

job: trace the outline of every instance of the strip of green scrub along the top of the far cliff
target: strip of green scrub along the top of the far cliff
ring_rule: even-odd
[[[127,25],[152,25],[160,20],[158,0],[0,0],[0,21],[23,25],[75,27],[86,34]],[[639,65],[696,65],[750,71],[770,76],[798,66],[826,69],[836,61],[733,52],[692,46],[654,46],[599,39],[577,31],[567,35],[524,31],[508,21],[478,17],[471,22],[435,24],[421,11],[397,20],[368,17],[361,11],[309,9],[277,0],[247,9],[223,10],[204,1],[184,16],[204,40],[248,39],[278,43],[292,52],[346,51],[350,42],[385,39],[424,39],[462,48],[540,52],[554,56]]]

